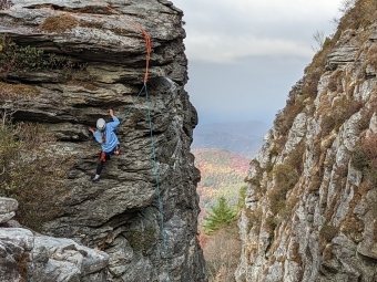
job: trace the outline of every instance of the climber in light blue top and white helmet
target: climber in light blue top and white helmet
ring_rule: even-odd
[[[98,130],[93,130],[92,127],[88,127],[88,130],[91,132],[98,143],[101,144],[101,155],[99,163],[96,164],[95,176],[92,179],[93,181],[98,181],[100,179],[100,175],[104,165],[104,161],[110,159],[110,155],[119,155],[120,154],[120,143],[115,135],[114,129],[120,125],[120,122],[116,116],[114,116],[114,111],[109,109],[110,116],[113,118],[112,122],[106,123],[103,118],[99,118],[96,121]]]

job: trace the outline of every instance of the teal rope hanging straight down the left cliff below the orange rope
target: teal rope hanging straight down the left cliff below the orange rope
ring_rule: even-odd
[[[157,185],[156,194],[157,194],[159,211],[160,211],[160,219],[161,219],[161,233],[162,233],[162,239],[163,239],[163,242],[164,242],[164,254],[165,254],[165,262],[166,262],[167,280],[171,281],[170,271],[169,271],[169,261],[167,261],[167,244],[166,244],[166,233],[165,233],[165,228],[164,228],[164,215],[163,215],[163,206],[162,206],[162,201],[161,201],[159,168],[157,168],[157,161],[155,159],[155,146],[154,146],[154,142],[153,142],[153,128],[152,128],[152,118],[151,118],[151,109],[150,109],[150,100],[149,100],[149,94],[147,94],[145,82],[144,82],[144,88],[145,88],[146,105],[147,105],[147,118],[149,118],[150,132],[151,132],[151,145],[152,145],[152,153],[153,153],[154,175],[155,175],[155,181],[156,181],[156,185]]]

